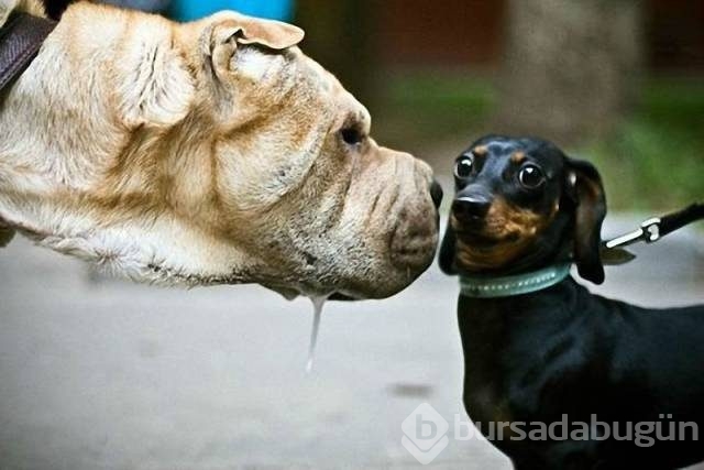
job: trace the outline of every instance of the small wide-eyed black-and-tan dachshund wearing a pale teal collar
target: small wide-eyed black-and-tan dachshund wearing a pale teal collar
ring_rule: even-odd
[[[462,276],[464,406],[490,440],[518,470],[703,460],[704,306],[639,308],[569,276],[574,262],[604,281],[594,166],[490,135],[457,160],[455,186],[440,266]]]

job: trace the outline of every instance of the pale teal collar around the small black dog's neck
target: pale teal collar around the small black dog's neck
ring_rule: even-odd
[[[570,275],[571,263],[556,264],[540,271],[504,277],[460,276],[462,295],[474,298],[510,297],[542,291]]]

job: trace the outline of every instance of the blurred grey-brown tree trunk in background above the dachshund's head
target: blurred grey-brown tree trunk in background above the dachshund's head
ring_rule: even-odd
[[[637,99],[639,0],[508,0],[498,124],[568,143],[604,135]]]

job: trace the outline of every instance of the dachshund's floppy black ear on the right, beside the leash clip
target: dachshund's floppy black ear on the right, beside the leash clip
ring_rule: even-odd
[[[574,261],[580,276],[604,282],[600,254],[606,196],[598,172],[588,162],[566,159],[566,193],[574,203]]]

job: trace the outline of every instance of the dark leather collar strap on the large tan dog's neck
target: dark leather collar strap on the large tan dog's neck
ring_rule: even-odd
[[[0,91],[32,63],[55,21],[12,13],[0,29]]]

